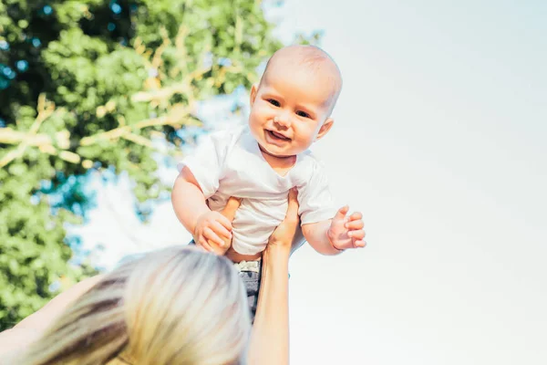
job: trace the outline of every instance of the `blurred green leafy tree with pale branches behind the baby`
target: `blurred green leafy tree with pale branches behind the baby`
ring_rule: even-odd
[[[153,153],[176,155],[196,103],[249,87],[280,46],[260,1],[0,1],[0,330],[91,272],[66,231],[87,173],[157,198]]]

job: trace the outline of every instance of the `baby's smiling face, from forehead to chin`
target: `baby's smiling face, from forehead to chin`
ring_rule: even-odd
[[[330,123],[332,78],[303,68],[269,69],[260,87],[251,90],[250,130],[263,151],[276,157],[305,151],[325,121]]]

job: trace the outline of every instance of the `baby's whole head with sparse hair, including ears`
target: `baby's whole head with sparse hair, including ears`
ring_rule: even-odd
[[[262,150],[276,157],[307,150],[330,130],[342,76],[325,51],[284,47],[251,89],[249,126]]]

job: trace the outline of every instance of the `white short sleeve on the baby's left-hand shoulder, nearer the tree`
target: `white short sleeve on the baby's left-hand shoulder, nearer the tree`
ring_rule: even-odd
[[[177,165],[179,172],[184,166],[190,169],[205,199],[210,198],[219,188],[231,140],[226,130],[212,132],[202,137],[196,149]]]

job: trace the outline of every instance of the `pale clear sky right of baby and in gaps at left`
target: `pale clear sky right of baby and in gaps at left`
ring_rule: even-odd
[[[272,16],[287,39],[324,30],[342,70],[315,152],[368,246],[294,254],[292,363],[547,363],[547,3],[318,4]],[[119,192],[81,232],[120,255],[138,223]],[[170,204],[151,227],[139,238],[190,238]]]

